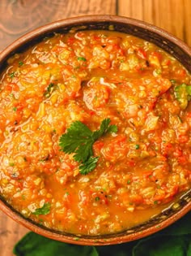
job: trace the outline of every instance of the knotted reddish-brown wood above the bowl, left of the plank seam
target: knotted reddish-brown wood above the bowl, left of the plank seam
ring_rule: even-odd
[[[1,0],[0,50],[28,31],[78,15],[116,14],[117,0]]]

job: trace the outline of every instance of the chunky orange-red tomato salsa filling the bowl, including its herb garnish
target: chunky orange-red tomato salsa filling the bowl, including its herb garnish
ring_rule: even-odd
[[[149,41],[46,37],[0,76],[1,196],[75,234],[150,219],[191,187],[190,99],[189,72]]]

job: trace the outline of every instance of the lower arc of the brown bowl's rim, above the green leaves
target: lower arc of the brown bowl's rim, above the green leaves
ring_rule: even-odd
[[[23,216],[17,213],[15,210],[11,210],[11,207],[7,206],[6,203],[2,202],[1,199],[0,199],[0,210],[2,210],[11,219],[15,220],[15,222],[22,224],[25,228],[28,228],[30,231],[36,232],[41,236],[45,236],[56,241],[62,241],[62,242],[75,244],[75,245],[98,246],[98,245],[117,245],[117,244],[129,242],[129,241],[138,240],[145,236],[150,236],[155,232],[159,232],[163,228],[167,228],[172,223],[175,223],[176,220],[186,215],[191,210],[191,201],[188,204],[186,204],[182,209],[177,211],[176,214],[170,216],[168,219],[164,219],[159,224],[155,224],[139,232],[134,232],[130,234],[127,233],[124,236],[116,236],[116,237],[114,236],[114,237],[109,237],[107,239],[103,239],[103,238],[95,239],[95,238],[91,238],[91,236],[90,238],[84,238],[83,235],[67,236],[62,233],[51,232],[49,230],[46,230],[45,228],[40,228],[40,226],[38,226],[37,224],[32,223],[28,219],[23,218]]]

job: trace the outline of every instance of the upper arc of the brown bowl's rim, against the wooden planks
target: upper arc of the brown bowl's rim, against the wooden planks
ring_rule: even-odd
[[[71,25],[81,26],[82,24],[88,23],[98,23],[98,22],[116,22],[117,24],[130,24],[151,31],[152,33],[159,34],[160,37],[164,37],[169,41],[172,41],[175,45],[179,46],[186,54],[191,57],[191,46],[189,47],[180,38],[174,36],[172,33],[167,32],[163,28],[159,28],[154,24],[149,24],[143,20],[137,20],[134,18],[129,18],[120,15],[81,15],[75,16],[63,20],[53,21],[49,24],[40,26],[39,28],[32,29],[28,33],[23,34],[23,36],[17,38],[9,46],[6,46],[4,50],[0,52],[0,59],[4,59],[11,51],[14,51],[19,46],[26,44],[28,41],[32,41],[35,37],[39,37],[49,31],[57,30],[58,28],[68,27]]]

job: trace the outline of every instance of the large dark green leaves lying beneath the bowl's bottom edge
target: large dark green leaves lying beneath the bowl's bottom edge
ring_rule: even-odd
[[[17,256],[191,256],[191,212],[151,236],[121,245],[82,246],[53,241],[29,232],[15,245]],[[80,240],[79,236],[74,241]],[[133,251],[133,253],[132,253]]]

